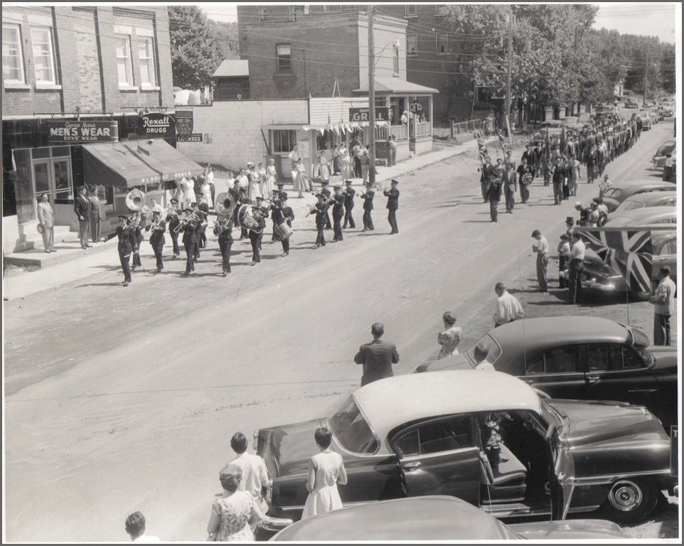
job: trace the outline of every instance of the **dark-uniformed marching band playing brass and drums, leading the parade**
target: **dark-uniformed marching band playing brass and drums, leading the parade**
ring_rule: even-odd
[[[363,202],[363,231],[373,230],[373,220],[370,218],[375,196],[373,186],[365,183],[365,190],[357,196],[351,181],[345,181],[344,185],[344,189],[342,185],[333,186],[333,193],[331,193],[327,187],[328,183],[323,181],[321,191],[315,194],[317,202],[306,215],[307,217],[315,215],[316,243],[314,248],[326,245],[324,230],[331,225],[328,215],[328,209],[331,207],[334,223],[333,241],[343,240],[342,230],[347,225],[352,229],[356,228],[352,217],[355,197]],[[388,209],[390,210],[388,219],[392,233],[397,232],[394,215],[399,191],[396,186],[397,181],[392,181],[390,189],[383,188],[383,193],[388,196]],[[272,242],[281,242],[282,256],[289,255],[294,210],[287,203],[288,196],[283,191],[283,185],[278,184],[277,189],[272,190],[271,198],[267,200],[264,200],[262,196],[256,196],[255,200],[252,200],[247,197],[247,191],[248,188],[243,188],[236,183],[234,188],[220,193],[214,200],[214,212],[217,218],[213,223],[213,235],[218,239],[223,277],[227,277],[230,273],[230,253],[235,242],[233,239],[235,227],[240,228],[241,240],[247,237],[250,239],[252,265],[261,262],[262,237],[269,213],[272,221]],[[154,252],[157,273],[161,273],[164,269],[165,234],[168,231],[173,245],[173,259],[181,255],[179,237],[186,251],[186,269],[183,277],[194,274],[195,264],[200,257],[200,249],[207,247],[205,230],[208,227],[209,216],[203,195],[198,193],[197,198],[199,203],[193,201],[182,209],[179,208],[176,198],[169,200],[166,209],[161,208],[152,200],[150,208],[146,205],[145,193],[137,188],[129,192],[126,204],[132,215],[119,216],[120,225],[116,230],[116,235],[119,237],[118,250],[124,273],[124,286],[132,282],[132,270],[141,267],[139,249],[144,240],[144,233],[149,235],[149,244]],[[129,265],[131,256],[133,257],[132,266]]]

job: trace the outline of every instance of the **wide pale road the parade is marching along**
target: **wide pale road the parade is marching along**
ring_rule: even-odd
[[[666,127],[611,178],[646,165]],[[125,540],[141,510],[153,534],[203,540],[233,432],[331,412],[358,385],[370,323],[397,341],[397,373],[437,350],[446,309],[479,337],[495,282],[530,288],[532,230],[560,232],[574,211],[537,181],[529,205],[492,224],[475,168],[471,154],[402,177],[397,236],[378,196],[373,234],[311,250],[313,222],[298,218],[289,257],[265,243],[250,267],[236,242],[227,279],[212,242],[194,279],[173,262],[119,289],[105,271],[7,306],[6,539]],[[577,199],[597,191],[581,185]]]

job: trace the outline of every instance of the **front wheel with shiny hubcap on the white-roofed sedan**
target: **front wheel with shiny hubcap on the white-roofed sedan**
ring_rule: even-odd
[[[616,481],[608,493],[602,510],[616,523],[637,523],[648,518],[658,504],[658,488],[643,478]]]

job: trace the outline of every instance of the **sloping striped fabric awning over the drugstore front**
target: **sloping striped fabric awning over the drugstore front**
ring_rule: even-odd
[[[203,173],[202,166],[164,140],[85,144],[83,173],[103,186],[132,188]]]

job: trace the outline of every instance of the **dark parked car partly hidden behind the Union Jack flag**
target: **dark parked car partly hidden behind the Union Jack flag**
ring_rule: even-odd
[[[652,231],[651,242],[653,243],[653,276],[660,271],[661,267],[670,268],[670,277],[677,282],[677,232]],[[630,293],[636,301],[647,301],[651,297],[651,291],[632,291],[628,282],[621,272],[610,267],[599,257],[596,252],[587,249],[584,252],[584,269],[582,270],[582,289],[600,290],[607,292]]]

